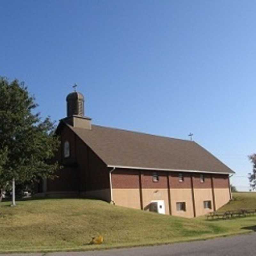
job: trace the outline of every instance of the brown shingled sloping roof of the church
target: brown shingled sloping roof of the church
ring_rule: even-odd
[[[92,130],[66,125],[109,167],[234,173],[194,141],[98,125],[92,125]]]

